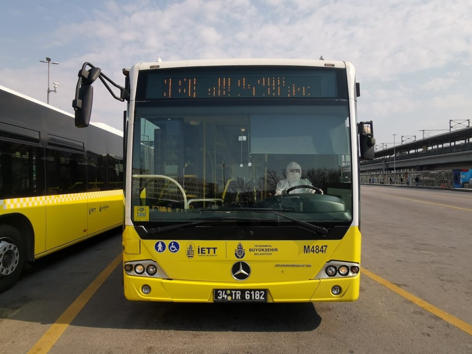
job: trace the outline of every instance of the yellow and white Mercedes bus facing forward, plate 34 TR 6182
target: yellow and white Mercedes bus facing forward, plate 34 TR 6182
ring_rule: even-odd
[[[371,121],[356,122],[352,64],[158,61],[123,73],[121,87],[84,63],[72,105],[87,126],[97,78],[128,101],[127,299],[357,299],[358,160],[375,139]]]

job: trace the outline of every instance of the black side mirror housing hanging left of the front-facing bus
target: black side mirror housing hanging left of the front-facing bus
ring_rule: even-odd
[[[93,82],[100,76],[100,68],[92,66],[89,70],[84,63],[82,70],[79,71],[79,80],[75,90],[75,99],[72,101],[72,107],[75,111],[75,126],[85,128],[89,126],[90,116],[92,114],[93,101]]]

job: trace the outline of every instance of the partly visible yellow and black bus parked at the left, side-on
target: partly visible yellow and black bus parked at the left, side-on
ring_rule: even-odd
[[[122,132],[0,86],[0,292],[25,262],[123,224]]]

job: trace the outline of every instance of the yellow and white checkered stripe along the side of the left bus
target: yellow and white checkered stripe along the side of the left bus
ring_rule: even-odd
[[[57,194],[41,197],[11,198],[0,200],[0,209],[18,209],[23,207],[39,207],[47,204],[61,204],[70,202],[87,201],[94,198],[110,198],[123,195],[121,189],[100,192]]]

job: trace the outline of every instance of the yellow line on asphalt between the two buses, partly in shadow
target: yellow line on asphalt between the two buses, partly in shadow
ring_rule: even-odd
[[[110,276],[112,271],[121,262],[121,253],[115,260],[110,263],[84,290],[84,292],[75,299],[75,301],[64,311],[58,320],[49,327],[44,335],[36,342],[28,354],[31,353],[48,353],[53,345],[58,341],[62,333],[67,329],[69,324],[74,320],[77,314],[82,310],[85,304],[90,300],[93,294],[100,288],[105,280]]]

